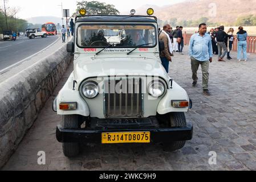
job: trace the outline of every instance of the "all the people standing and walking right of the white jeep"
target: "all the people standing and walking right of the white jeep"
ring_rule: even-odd
[[[173,53],[179,52],[183,54],[184,38],[182,36],[182,28],[182,26],[177,26],[176,30],[173,31],[172,27],[166,24],[162,31],[159,29],[159,40],[165,44],[164,51],[160,52],[160,59],[167,73]],[[232,59],[230,51],[234,42],[234,28],[229,28],[227,32],[224,31],[224,26],[212,28],[208,33],[206,33],[206,30],[206,24],[201,23],[196,34],[193,34],[190,38],[189,56],[192,68],[192,86],[197,85],[197,71],[201,65],[203,93],[209,96],[211,94],[208,89],[209,65],[213,61],[213,54],[218,55],[218,61],[224,61],[226,55],[228,60]],[[247,32],[241,26],[238,28],[237,40],[237,59],[238,61],[247,61]]]

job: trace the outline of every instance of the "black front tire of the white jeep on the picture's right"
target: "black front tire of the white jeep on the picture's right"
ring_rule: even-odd
[[[168,119],[170,127],[185,127],[186,117],[183,112],[179,113],[168,113]],[[186,141],[174,141],[164,143],[164,151],[175,151],[185,146]]]

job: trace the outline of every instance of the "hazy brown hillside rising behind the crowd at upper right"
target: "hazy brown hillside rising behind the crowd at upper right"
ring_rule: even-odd
[[[168,21],[177,18],[182,20],[198,20],[208,18],[209,22],[233,24],[237,18],[256,14],[256,0],[192,0],[163,7],[152,6],[155,15]],[[138,14],[145,14],[151,5],[144,5],[137,9]]]

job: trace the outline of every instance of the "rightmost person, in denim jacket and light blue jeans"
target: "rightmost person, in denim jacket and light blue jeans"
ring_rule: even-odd
[[[237,32],[237,40],[238,40],[238,47],[237,47],[237,59],[238,61],[241,61],[242,59],[247,61],[247,32],[243,30],[243,27],[238,27]],[[243,58],[241,55],[241,52],[243,52]]]

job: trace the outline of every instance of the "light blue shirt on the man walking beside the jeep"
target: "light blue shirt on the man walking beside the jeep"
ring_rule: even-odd
[[[209,61],[210,57],[213,57],[212,38],[209,34],[192,35],[189,43],[189,56],[193,56],[198,61]]]

